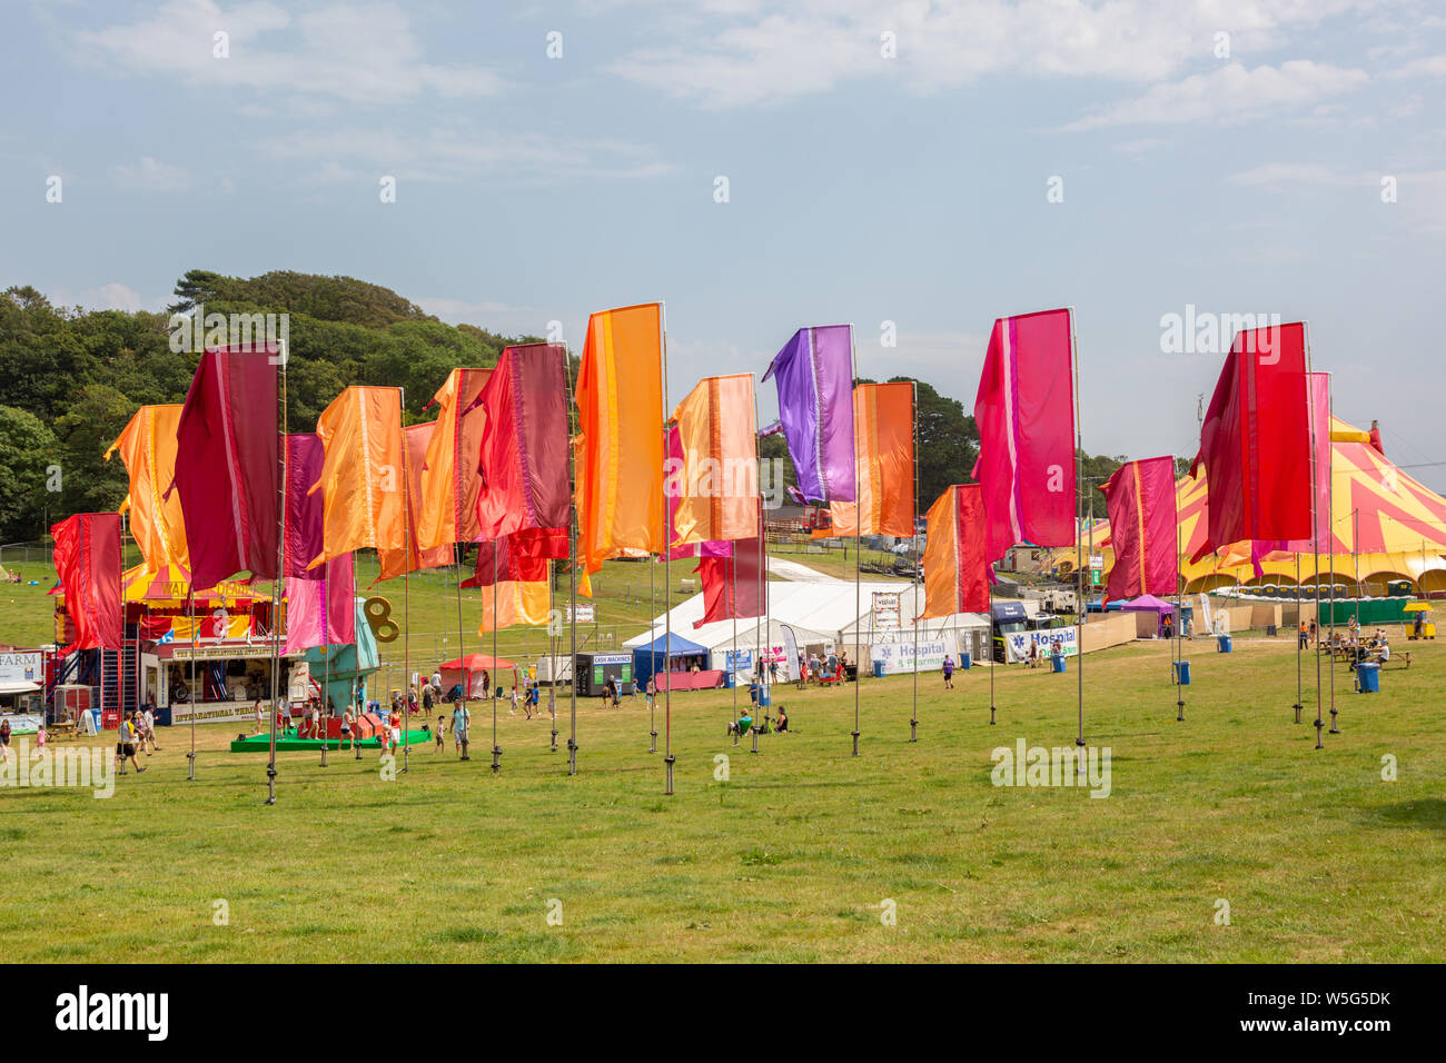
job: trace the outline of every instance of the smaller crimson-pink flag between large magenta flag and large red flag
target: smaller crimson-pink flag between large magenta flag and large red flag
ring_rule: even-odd
[[[1180,589],[1174,458],[1126,461],[1102,490],[1115,547],[1105,600],[1174,594]]]

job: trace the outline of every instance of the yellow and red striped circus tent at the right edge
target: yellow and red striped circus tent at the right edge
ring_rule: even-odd
[[[1330,542],[1320,542],[1322,580],[1382,583],[1408,579],[1424,592],[1446,590],[1446,498],[1403,471],[1375,447],[1368,434],[1339,418],[1330,419]],[[1310,470],[1303,469],[1301,476]],[[1261,558],[1262,577],[1257,579],[1248,542],[1236,542],[1197,564],[1190,555],[1205,541],[1206,477],[1183,476],[1176,482],[1180,512],[1180,573],[1189,592],[1238,583],[1294,583],[1296,554],[1274,551]],[[1090,548],[1089,532],[1082,544]],[[1093,550],[1103,554],[1105,570],[1115,563],[1109,542],[1109,524],[1096,521]],[[1359,554],[1359,557],[1358,557]],[[1047,564],[1073,568],[1074,550],[1051,551]],[[1313,583],[1316,558],[1300,554],[1300,580]],[[1377,587],[1379,589],[1379,587]]]

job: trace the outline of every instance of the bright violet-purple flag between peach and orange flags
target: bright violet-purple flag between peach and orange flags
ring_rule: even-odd
[[[810,502],[853,502],[853,325],[800,328],[769,376],[798,490]]]

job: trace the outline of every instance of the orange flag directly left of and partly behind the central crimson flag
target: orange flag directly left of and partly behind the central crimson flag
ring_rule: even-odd
[[[421,480],[416,539],[422,550],[480,538],[477,495],[482,474],[477,457],[487,417],[480,405],[476,409],[471,406],[490,376],[490,369],[454,369],[432,396],[440,409],[437,431],[427,444]]]

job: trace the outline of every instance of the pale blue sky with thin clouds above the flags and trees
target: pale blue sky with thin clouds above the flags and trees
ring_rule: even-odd
[[[0,26],[0,286],[155,309],[192,268],[347,273],[574,347],[664,299],[674,401],[853,321],[862,375],[966,409],[995,317],[1073,305],[1084,447],[1131,457],[1193,454],[1219,372],[1163,315],[1280,314],[1338,415],[1446,461],[1439,6],[12,0]]]

